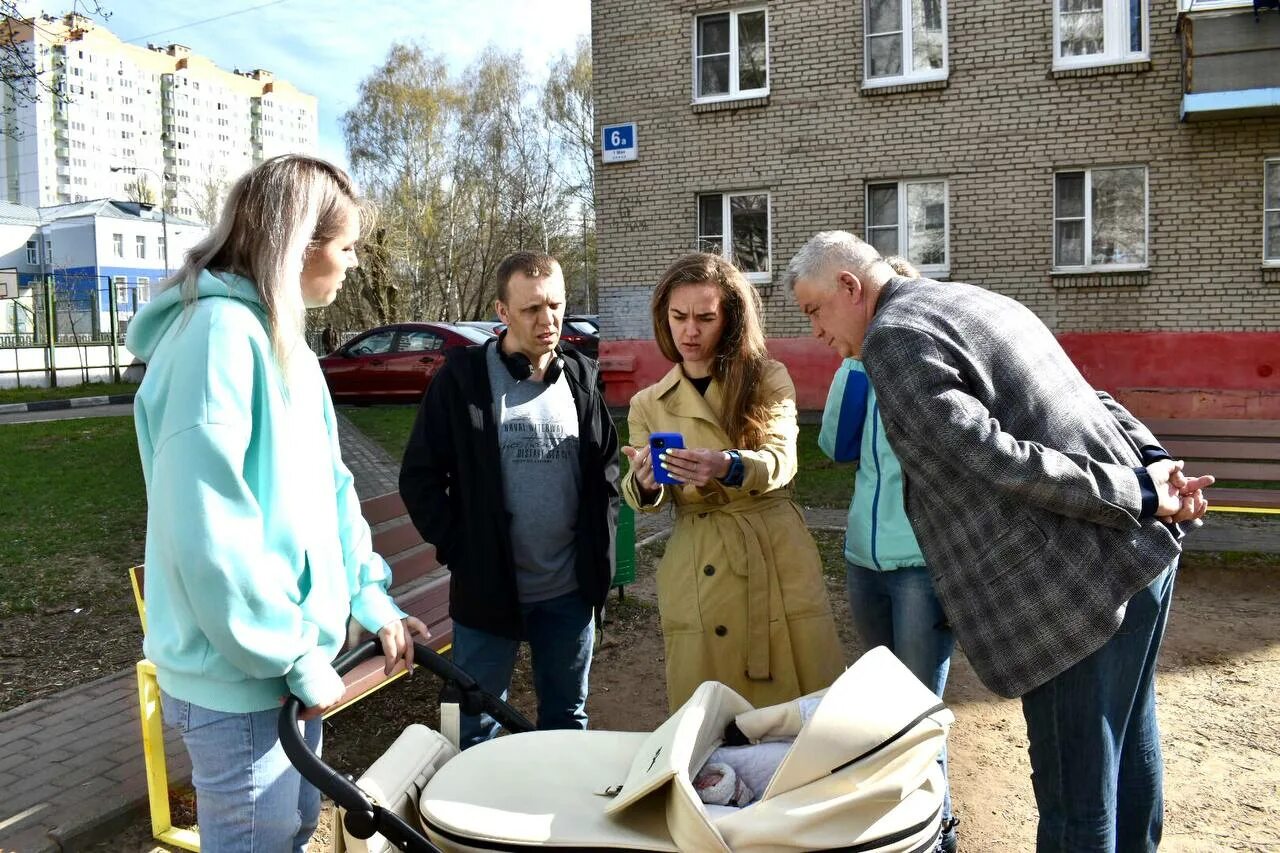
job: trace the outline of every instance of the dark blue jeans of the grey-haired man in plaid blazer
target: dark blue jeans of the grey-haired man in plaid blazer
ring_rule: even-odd
[[[1160,844],[1156,657],[1176,565],[1129,599],[1102,648],[1023,697],[1039,853],[1140,853]]]

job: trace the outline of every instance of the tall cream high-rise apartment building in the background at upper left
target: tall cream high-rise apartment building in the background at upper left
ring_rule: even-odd
[[[164,175],[169,211],[200,219],[253,164],[316,150],[315,96],[270,72],[225,70],[182,45],[125,44],[82,15],[0,26],[42,72],[31,99],[5,92],[6,201],[159,201]]]

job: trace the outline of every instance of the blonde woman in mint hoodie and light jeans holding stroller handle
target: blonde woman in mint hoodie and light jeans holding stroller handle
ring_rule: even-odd
[[[241,177],[221,220],[129,324],[147,487],[146,656],[191,754],[206,850],[305,850],[320,793],[276,739],[289,693],[320,747],[348,615],[387,670],[412,661],[333,403],[302,339],[356,265],[366,207],[344,172],[287,155]]]

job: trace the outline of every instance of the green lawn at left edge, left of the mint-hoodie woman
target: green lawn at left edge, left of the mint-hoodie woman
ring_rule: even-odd
[[[0,428],[0,617],[128,585],[147,506],[132,418]]]

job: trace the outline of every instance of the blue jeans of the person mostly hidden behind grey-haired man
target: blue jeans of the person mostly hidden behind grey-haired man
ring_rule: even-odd
[[[845,561],[849,612],[868,648],[887,646],[911,674],[938,698],[947,686],[955,638],[924,566],[876,571]],[[947,775],[946,747],[938,754]],[[951,818],[951,786],[942,800],[942,820]]]

